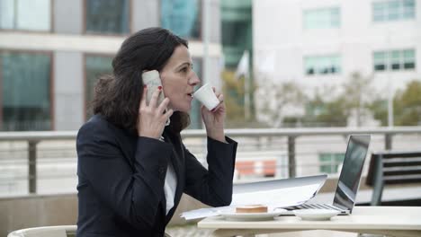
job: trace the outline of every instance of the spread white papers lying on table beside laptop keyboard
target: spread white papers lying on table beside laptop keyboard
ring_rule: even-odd
[[[234,209],[235,206],[262,204],[269,206],[271,210],[276,207],[298,206],[313,198],[320,188],[320,184],[303,185],[299,187],[290,188],[273,188],[266,190],[259,190],[255,187],[256,191],[242,191],[234,193],[230,206],[221,206],[213,208],[202,208],[193,211],[184,212],[181,216],[186,220],[203,218],[208,216],[219,215],[219,212],[225,212]]]

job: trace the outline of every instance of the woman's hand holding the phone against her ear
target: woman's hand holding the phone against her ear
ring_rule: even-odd
[[[149,104],[147,104],[148,88],[144,86],[143,95],[140,99],[139,116],[138,116],[138,135],[151,138],[161,138],[166,120],[173,115],[173,110],[167,110],[169,99],[166,98],[161,104],[157,104],[157,98],[162,88],[158,88],[152,94]],[[164,113],[166,111],[166,113]]]

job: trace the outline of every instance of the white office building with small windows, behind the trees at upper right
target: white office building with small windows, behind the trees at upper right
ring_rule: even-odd
[[[255,73],[275,82],[311,92],[358,72],[386,96],[421,80],[419,0],[255,0],[253,13]]]

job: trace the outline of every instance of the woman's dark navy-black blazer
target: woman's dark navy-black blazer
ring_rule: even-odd
[[[182,193],[210,206],[228,206],[237,143],[208,137],[206,170],[166,128],[166,142],[134,136],[94,115],[80,128],[77,149],[77,237],[163,236]],[[168,162],[177,178],[175,206],[166,215]]]

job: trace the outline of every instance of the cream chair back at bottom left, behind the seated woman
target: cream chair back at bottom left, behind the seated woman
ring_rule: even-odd
[[[42,226],[9,233],[7,237],[75,237],[76,225]]]

